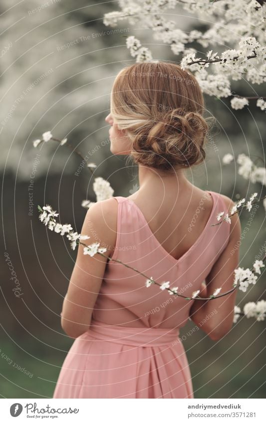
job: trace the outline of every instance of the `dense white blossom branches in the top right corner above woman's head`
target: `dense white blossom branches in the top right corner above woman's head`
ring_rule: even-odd
[[[265,2],[251,0],[223,0],[216,6],[216,1],[202,0],[132,0],[121,1],[120,11],[104,14],[103,23],[107,26],[117,26],[121,20],[127,20],[130,25],[150,28],[154,39],[168,44],[174,55],[182,54],[180,66],[195,72],[203,93],[217,98],[232,96],[231,81],[237,81],[246,76],[250,84],[262,84],[266,81],[266,46],[265,46]],[[177,27],[173,20],[166,20],[170,13],[167,9],[174,9],[181,4],[189,13],[204,19],[209,28],[205,32],[199,30],[185,31]],[[147,14],[149,19],[147,19]],[[212,18],[210,19],[210,15]],[[243,22],[247,22],[244,24]],[[204,48],[214,44],[217,49],[221,45],[231,45],[231,48],[218,52],[207,51],[206,58],[196,58],[194,47],[186,48],[187,44],[197,42]],[[136,62],[156,61],[152,59],[149,48],[143,47],[141,42],[130,35],[126,39],[126,46],[130,49]],[[259,66],[258,66],[259,64]],[[207,72],[207,68],[210,72]],[[265,97],[234,97],[231,100],[232,109],[242,109],[249,104],[249,100],[257,99],[257,107],[266,110]]]

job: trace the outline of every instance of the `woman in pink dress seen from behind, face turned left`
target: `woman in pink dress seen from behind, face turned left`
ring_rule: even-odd
[[[194,398],[179,329],[190,317],[221,339],[232,327],[236,290],[211,301],[185,297],[232,288],[239,216],[212,226],[234,202],[185,176],[204,160],[208,131],[190,72],[165,62],[128,66],[114,81],[110,111],[111,152],[138,164],[139,190],[95,203],[86,214],[81,233],[112,260],[84,256],[79,246],[61,313],[75,341],[53,398]],[[146,285],[146,277],[169,284]]]

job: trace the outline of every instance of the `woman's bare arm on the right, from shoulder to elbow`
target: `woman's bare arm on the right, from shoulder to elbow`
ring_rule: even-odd
[[[228,214],[235,204],[230,198],[223,195],[228,207]],[[206,278],[207,295],[213,294],[216,288],[222,288],[218,295],[233,288],[235,279],[234,270],[239,267],[239,240],[241,236],[241,223],[239,214],[231,217],[231,224],[222,222],[221,225],[230,225],[230,238],[219,259],[215,262],[211,272]],[[208,301],[207,308],[215,314],[210,321],[213,339],[224,336],[232,327],[234,319],[234,307],[236,303],[237,289],[230,294]]]

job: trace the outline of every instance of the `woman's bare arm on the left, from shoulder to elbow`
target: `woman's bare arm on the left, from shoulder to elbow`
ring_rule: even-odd
[[[117,207],[118,203],[113,198],[93,204],[86,213],[80,232],[81,235],[90,237],[81,240],[82,243],[86,245],[100,243],[100,247],[107,249],[104,255],[108,257],[116,242]],[[78,246],[76,262],[61,312],[62,328],[72,337],[77,337],[88,330],[108,260],[98,253],[93,257],[84,255],[83,247]]]

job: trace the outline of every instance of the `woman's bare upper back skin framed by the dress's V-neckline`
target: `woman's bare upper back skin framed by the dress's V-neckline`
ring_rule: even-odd
[[[127,199],[134,202],[155,238],[175,259],[200,237],[214,206],[212,195],[193,185],[178,196],[165,192],[162,198],[143,190]]]

